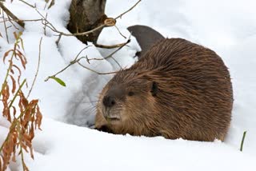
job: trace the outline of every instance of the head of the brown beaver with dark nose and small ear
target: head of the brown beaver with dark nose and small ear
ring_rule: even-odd
[[[158,84],[146,74],[122,70],[102,90],[97,115],[101,115],[111,129],[138,124],[146,119],[145,113],[154,111],[157,93]]]

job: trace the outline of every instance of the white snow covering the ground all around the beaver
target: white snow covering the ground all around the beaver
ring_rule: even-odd
[[[50,10],[43,10],[43,0],[28,0],[37,4],[43,15],[58,29],[68,33],[70,0],[55,0]],[[135,0],[107,0],[106,14],[116,17],[133,6]],[[40,16],[30,6],[14,0],[6,6],[21,19],[38,19]],[[57,37],[41,22],[26,22],[22,39],[28,65],[24,78],[31,85],[38,62],[38,45],[42,38],[42,56],[38,79],[31,98],[39,98],[43,113],[42,131],[34,138],[34,161],[29,156],[26,163],[30,170],[255,170],[256,160],[256,2],[254,0],[146,0],[118,20],[117,26],[129,37],[126,27],[140,24],[153,27],[168,38],[186,38],[215,50],[230,68],[234,86],[234,109],[230,131],[225,142],[198,142],[166,140],[163,137],[131,137],[101,133],[90,126],[94,123],[95,101],[102,86],[111,75],[98,75],[74,65],[58,78],[66,87],[53,80],[44,80],[67,66],[86,45],[77,38]],[[6,42],[3,24],[0,23],[0,57],[13,46],[14,38],[9,29],[10,44]],[[114,28],[102,31],[98,43],[126,42]],[[129,67],[139,50],[132,38],[114,58]],[[94,46],[81,56],[102,58],[111,50]],[[2,59],[1,59],[2,61]],[[82,62],[99,72],[118,70],[113,61]],[[4,66],[0,62],[2,83]],[[24,89],[28,91],[28,89]],[[0,105],[0,108],[2,106]],[[70,125],[67,123],[73,123]],[[0,144],[6,136],[8,124],[0,117]],[[238,149],[243,131],[247,131],[243,152]],[[20,162],[11,163],[11,170],[21,170]]]

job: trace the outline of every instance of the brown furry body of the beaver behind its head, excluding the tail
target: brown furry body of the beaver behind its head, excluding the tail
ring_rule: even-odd
[[[233,91],[229,71],[214,51],[181,38],[165,39],[129,70],[154,71],[148,77],[158,82],[155,98],[164,137],[223,140]]]

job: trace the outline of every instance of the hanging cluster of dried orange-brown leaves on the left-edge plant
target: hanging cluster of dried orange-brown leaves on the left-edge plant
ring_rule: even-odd
[[[23,154],[24,151],[26,153],[30,153],[30,157],[34,158],[33,147],[32,147],[32,140],[34,138],[34,129],[40,129],[41,122],[42,122],[42,113],[40,112],[38,106],[38,100],[28,101],[22,90],[18,91],[17,94],[14,95],[12,99],[10,99],[10,92],[15,93],[17,91],[17,82],[18,82],[18,89],[21,89],[19,83],[19,79],[22,75],[22,70],[13,64],[13,60],[15,58],[20,60],[22,67],[26,69],[26,56],[22,54],[20,51],[21,46],[24,50],[22,38],[20,38],[21,33],[14,33],[14,37],[16,38],[16,42],[14,44],[13,50],[8,50],[6,54],[4,54],[3,62],[6,61],[7,57],[12,52],[14,58],[9,59],[9,68],[8,70],[8,81],[11,80],[12,89],[10,91],[10,82],[4,82],[2,84],[2,104],[3,110],[2,115],[7,117],[8,121],[11,122],[11,126],[9,129],[8,136],[6,137],[6,141],[4,141],[1,152],[0,152],[0,171],[5,170],[7,166],[10,164],[11,161],[16,161],[17,155]],[[14,77],[14,73],[17,73],[14,69],[18,70],[18,77]],[[12,105],[15,98],[19,97],[18,100],[18,108],[15,105]],[[10,106],[10,104],[12,106]],[[19,110],[19,111],[18,111]],[[16,116],[17,113],[20,113],[19,116]],[[11,117],[14,117],[14,120],[11,121]],[[17,154],[18,150],[18,154]],[[23,155],[22,155],[23,156]],[[23,170],[28,170],[24,159],[22,157],[22,166]]]

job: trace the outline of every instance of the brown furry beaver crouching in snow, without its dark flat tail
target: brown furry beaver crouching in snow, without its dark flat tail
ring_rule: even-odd
[[[223,141],[232,105],[230,74],[218,54],[167,38],[107,83],[95,127],[135,136]]]

